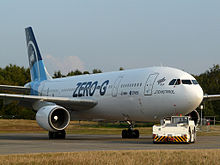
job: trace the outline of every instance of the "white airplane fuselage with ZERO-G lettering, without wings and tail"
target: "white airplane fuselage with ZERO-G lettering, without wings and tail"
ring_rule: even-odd
[[[38,95],[97,101],[89,110],[68,109],[71,120],[154,121],[187,114],[203,99],[199,84],[169,85],[172,79],[195,80],[178,69],[150,67],[45,80]]]

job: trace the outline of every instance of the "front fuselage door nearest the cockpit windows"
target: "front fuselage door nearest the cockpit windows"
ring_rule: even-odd
[[[147,82],[146,82],[145,87],[144,87],[144,95],[145,96],[152,95],[153,86],[154,86],[155,80],[156,80],[158,75],[159,75],[159,73],[153,73],[153,74],[150,74],[148,76]]]

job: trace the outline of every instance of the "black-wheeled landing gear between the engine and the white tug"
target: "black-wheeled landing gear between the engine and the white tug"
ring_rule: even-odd
[[[125,138],[130,138],[130,139],[138,139],[139,138],[139,130],[137,129],[133,129],[133,124],[130,121],[127,121],[127,123],[129,124],[129,128],[126,130],[122,130],[121,136],[122,139]]]

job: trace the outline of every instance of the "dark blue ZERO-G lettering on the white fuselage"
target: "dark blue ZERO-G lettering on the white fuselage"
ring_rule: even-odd
[[[99,90],[99,94],[104,96],[108,84],[109,80],[104,81],[101,85],[99,85],[98,81],[78,82],[73,92],[73,97],[93,96],[96,90]]]

